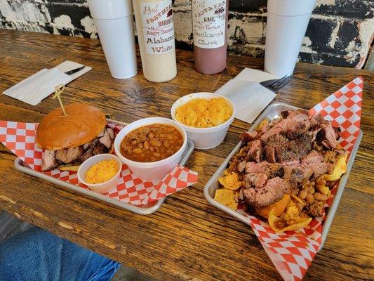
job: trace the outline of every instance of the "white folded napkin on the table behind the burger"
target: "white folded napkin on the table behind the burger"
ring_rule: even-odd
[[[37,105],[47,96],[55,91],[55,86],[59,84],[66,85],[70,81],[90,71],[91,67],[84,67],[83,70],[72,75],[67,75],[64,72],[74,70],[83,65],[74,63],[72,61],[65,61],[60,65],[51,68],[50,70],[44,68],[32,76],[20,81],[3,93],[6,96],[22,100],[29,105]]]

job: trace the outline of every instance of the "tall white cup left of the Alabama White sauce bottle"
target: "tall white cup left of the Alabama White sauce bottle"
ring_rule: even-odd
[[[88,0],[112,77],[138,73],[131,0]]]

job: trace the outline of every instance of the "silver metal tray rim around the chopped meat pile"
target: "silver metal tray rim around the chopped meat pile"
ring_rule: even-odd
[[[255,128],[257,128],[258,125],[260,125],[260,122],[265,118],[272,120],[274,118],[281,117],[281,112],[283,110],[297,110],[297,109],[299,109],[299,107],[288,105],[286,103],[273,103],[272,105],[269,105],[264,112],[262,112],[262,115],[258,117],[257,121],[251,126],[251,129],[249,129],[248,131],[253,131]],[[323,221],[323,227],[322,227],[322,244],[319,250],[323,248],[323,244],[326,241],[328,230],[330,230],[331,223],[333,222],[335,211],[336,209],[338,209],[340,197],[342,197],[342,192],[345,188],[345,183],[347,183],[349,172],[351,171],[354,158],[356,157],[356,153],[359,148],[361,138],[362,138],[362,131],[360,130],[359,137],[357,138],[357,141],[354,144],[354,148],[351,154],[349,155],[349,159],[347,162],[347,173],[345,173],[342,176],[342,178],[340,178],[338,190],[336,191],[333,197],[333,203],[331,204],[330,208],[326,209],[326,220]],[[233,209],[230,209],[229,207],[226,207],[225,205],[220,204],[219,202],[213,199],[215,196],[215,190],[219,188],[218,178],[223,176],[225,169],[227,169],[227,166],[229,164],[229,160],[236,154],[236,152],[239,151],[240,148],[241,148],[241,142],[239,142],[238,145],[236,145],[234,150],[232,150],[230,155],[225,159],[225,162],[223,162],[221,166],[218,168],[218,170],[215,171],[215,174],[213,174],[211,179],[205,185],[204,196],[206,197],[206,200],[208,200],[208,202],[211,203],[213,206],[217,207],[218,209],[222,211],[225,211],[227,214],[234,216],[234,218],[237,218],[239,221],[243,221],[243,223],[246,223],[249,226],[248,218],[246,218],[242,214],[239,214],[237,211],[234,211]]]

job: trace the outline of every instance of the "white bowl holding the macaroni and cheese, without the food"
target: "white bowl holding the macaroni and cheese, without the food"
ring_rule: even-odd
[[[227,101],[229,107],[231,107],[232,115],[225,123],[211,128],[195,128],[180,123],[175,118],[175,111],[178,107],[180,107],[180,105],[184,105],[185,103],[188,103],[189,100],[193,100],[194,98],[206,98],[208,100],[212,98],[224,98]],[[187,137],[194,142],[195,148],[206,150],[215,148],[216,146],[220,145],[225,139],[227,130],[229,129],[230,124],[232,124],[235,118],[235,106],[228,98],[224,96],[218,96],[215,93],[191,93],[187,96],[182,96],[182,98],[179,98],[177,101],[175,101],[175,103],[171,107],[171,117],[175,122],[178,122],[178,124],[180,124],[183,129],[185,129],[185,131],[187,132]]]

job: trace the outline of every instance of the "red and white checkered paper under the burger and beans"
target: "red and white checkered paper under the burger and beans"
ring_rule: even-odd
[[[43,152],[35,143],[37,126],[38,124],[34,123],[0,121],[0,141],[31,169],[41,171]],[[116,133],[121,129],[114,124],[108,124],[108,126],[112,127]],[[74,171],[54,169],[44,174],[81,188],[87,188],[86,185],[78,182]],[[123,164],[119,184],[104,195],[128,204],[145,206],[196,182],[197,173],[180,165],[175,166],[162,181],[149,182],[135,178],[128,166]]]

